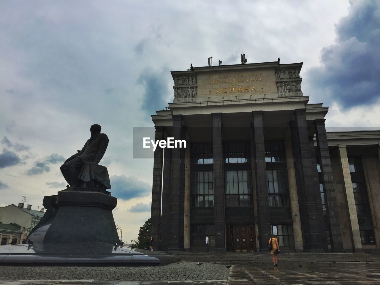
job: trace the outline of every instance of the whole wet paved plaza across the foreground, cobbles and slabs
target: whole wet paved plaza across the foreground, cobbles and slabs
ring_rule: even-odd
[[[269,253],[172,253],[160,267],[1,266],[0,284],[380,285],[380,255],[283,253],[274,268]]]

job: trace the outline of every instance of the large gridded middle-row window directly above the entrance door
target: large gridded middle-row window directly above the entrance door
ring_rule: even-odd
[[[225,190],[226,207],[252,206],[252,187],[250,171],[225,171]]]

